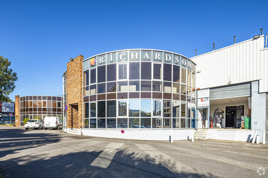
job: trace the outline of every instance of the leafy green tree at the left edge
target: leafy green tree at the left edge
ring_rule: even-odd
[[[11,102],[8,95],[14,91],[18,80],[17,73],[8,68],[10,65],[9,59],[0,56],[0,101],[3,102]]]

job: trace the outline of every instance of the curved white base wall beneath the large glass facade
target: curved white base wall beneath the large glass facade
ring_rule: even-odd
[[[82,129],[83,135],[92,137],[119,138],[132,140],[170,140],[171,130],[99,130]],[[173,140],[192,139],[194,129],[173,130]]]

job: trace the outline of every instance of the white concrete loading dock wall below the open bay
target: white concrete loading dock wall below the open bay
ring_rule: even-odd
[[[251,142],[255,130],[208,129],[209,139]]]

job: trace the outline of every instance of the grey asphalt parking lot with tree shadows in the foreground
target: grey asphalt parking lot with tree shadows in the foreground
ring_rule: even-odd
[[[8,126],[0,127],[0,138],[2,177],[268,177],[263,144],[123,140]]]

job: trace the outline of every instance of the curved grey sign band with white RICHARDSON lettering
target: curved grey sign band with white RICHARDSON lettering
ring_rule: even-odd
[[[96,61],[95,61],[96,60]],[[90,63],[88,62],[90,61]],[[192,70],[192,61],[180,54],[169,51],[158,51],[148,49],[131,49],[125,51],[112,51],[104,54],[98,54],[84,60],[84,65],[96,67],[97,65],[111,64],[125,61],[155,61],[170,64],[177,64]]]

